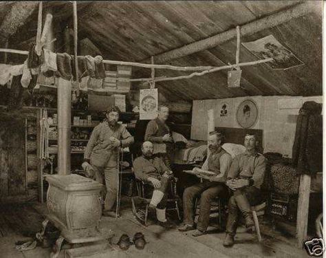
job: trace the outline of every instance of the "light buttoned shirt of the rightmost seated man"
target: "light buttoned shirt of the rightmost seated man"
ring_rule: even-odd
[[[253,186],[261,188],[265,177],[266,158],[260,153],[241,153],[235,156],[228,171],[228,179],[246,178],[253,180]]]

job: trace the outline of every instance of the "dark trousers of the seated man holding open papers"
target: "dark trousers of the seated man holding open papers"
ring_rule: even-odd
[[[228,190],[224,183],[209,182],[208,180],[204,180],[202,183],[186,188],[183,195],[184,224],[194,224],[195,199],[201,195],[197,229],[205,231],[209,223],[211,202],[213,202],[217,196],[223,195],[226,197],[227,193]]]

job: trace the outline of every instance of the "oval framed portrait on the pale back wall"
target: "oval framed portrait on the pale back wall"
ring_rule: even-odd
[[[253,100],[243,100],[237,109],[237,122],[243,128],[250,128],[258,119],[258,107]]]

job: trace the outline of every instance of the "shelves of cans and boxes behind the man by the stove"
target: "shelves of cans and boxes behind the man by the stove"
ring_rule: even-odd
[[[91,136],[91,132],[94,127],[105,119],[105,113],[100,111],[76,111],[72,110],[72,121],[70,131],[70,147],[71,147],[71,173],[78,173],[83,175],[81,170],[81,164],[83,163],[83,154],[87,142]],[[122,125],[127,127],[129,133],[134,135],[135,123],[138,119],[138,114],[133,112],[122,112],[120,113],[120,121]],[[56,174],[57,171],[57,159],[58,159],[58,117],[56,109],[47,109],[47,125],[48,134],[47,139],[47,153],[49,158],[42,161],[41,166],[41,194],[40,200],[44,202],[45,191],[47,190],[47,182],[45,177],[47,175]],[[129,148],[124,148],[120,151],[120,168],[123,177],[128,177],[127,174],[131,173],[132,158]],[[125,184],[125,182],[122,182]],[[129,184],[128,184],[129,185]],[[127,187],[127,186],[126,186]]]

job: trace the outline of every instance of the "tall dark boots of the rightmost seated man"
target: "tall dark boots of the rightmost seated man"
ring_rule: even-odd
[[[243,194],[233,195],[234,202],[230,202],[228,222],[226,224],[226,238],[223,245],[226,247],[233,246],[235,244],[235,232],[237,230],[238,222],[238,208],[241,211],[247,228],[254,226],[254,220],[252,219],[252,211],[248,199]]]

